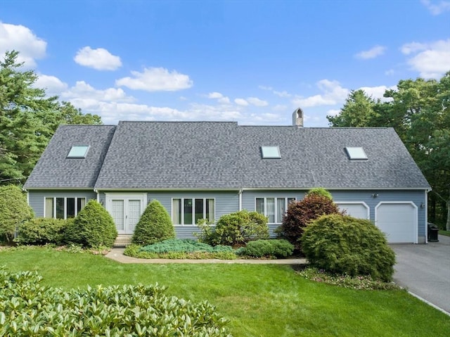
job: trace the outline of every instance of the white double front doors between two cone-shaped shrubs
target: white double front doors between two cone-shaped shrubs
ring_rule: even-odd
[[[119,234],[133,234],[146,201],[145,193],[106,194],[106,209],[113,217]]]

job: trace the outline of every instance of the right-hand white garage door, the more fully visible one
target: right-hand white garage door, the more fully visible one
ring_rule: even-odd
[[[412,203],[380,203],[375,224],[389,243],[417,243],[417,208]]]

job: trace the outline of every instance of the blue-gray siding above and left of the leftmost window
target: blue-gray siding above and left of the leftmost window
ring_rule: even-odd
[[[86,203],[91,199],[96,199],[97,194],[92,190],[88,191],[48,191],[32,190],[28,191],[28,203],[34,210],[36,217],[44,217],[45,198],[86,198]]]

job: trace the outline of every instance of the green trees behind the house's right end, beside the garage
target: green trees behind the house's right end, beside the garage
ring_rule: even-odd
[[[332,127],[393,127],[432,186],[428,217],[450,230],[450,71],[440,80],[400,80],[386,100],[353,90]]]

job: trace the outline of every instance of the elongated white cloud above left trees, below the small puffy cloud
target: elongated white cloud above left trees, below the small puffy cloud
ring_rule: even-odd
[[[134,98],[127,96],[120,88],[108,88],[105,90],[94,89],[84,81],[78,81],[75,87],[63,91],[61,98],[91,101],[131,102]]]

